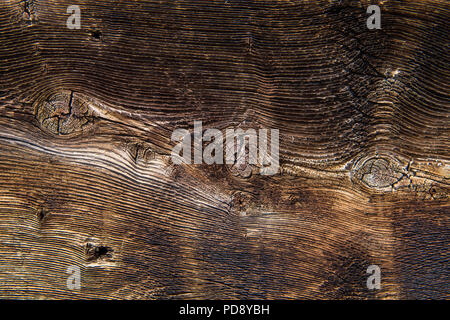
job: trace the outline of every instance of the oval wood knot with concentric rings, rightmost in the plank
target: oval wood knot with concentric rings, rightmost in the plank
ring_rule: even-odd
[[[359,161],[353,169],[353,179],[375,190],[388,190],[403,177],[395,160],[372,157]]]

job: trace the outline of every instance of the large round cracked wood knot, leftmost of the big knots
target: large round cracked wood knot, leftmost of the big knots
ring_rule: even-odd
[[[38,101],[35,116],[42,130],[54,135],[86,131],[93,125],[89,99],[73,91],[61,91]]]

